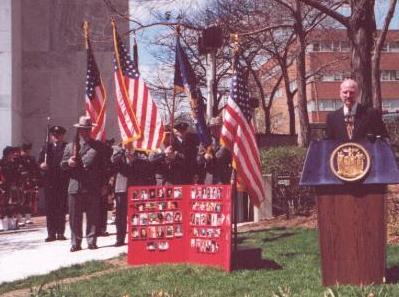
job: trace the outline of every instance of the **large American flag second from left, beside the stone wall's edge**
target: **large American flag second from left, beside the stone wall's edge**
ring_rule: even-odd
[[[136,60],[121,41],[114,27],[115,88],[119,129],[124,143],[133,141],[134,148],[154,151],[160,148],[164,125],[150,91],[142,79]]]

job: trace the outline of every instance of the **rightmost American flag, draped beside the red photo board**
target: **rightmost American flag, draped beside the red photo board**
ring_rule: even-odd
[[[247,80],[238,59],[230,86],[230,96],[224,108],[221,142],[232,152],[237,180],[245,187],[251,201],[259,205],[265,199],[259,150],[252,124]]]

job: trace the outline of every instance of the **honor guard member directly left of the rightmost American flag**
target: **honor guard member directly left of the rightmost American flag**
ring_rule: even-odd
[[[209,129],[212,144],[209,148],[200,144],[197,155],[199,171],[204,176],[204,184],[229,184],[231,178],[231,153],[219,143],[222,117],[211,118]]]

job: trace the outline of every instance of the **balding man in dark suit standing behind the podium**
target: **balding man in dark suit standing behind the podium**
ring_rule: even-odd
[[[328,139],[348,142],[377,135],[388,137],[381,114],[357,102],[359,87],[355,80],[345,79],[341,83],[339,96],[343,107],[327,115]]]

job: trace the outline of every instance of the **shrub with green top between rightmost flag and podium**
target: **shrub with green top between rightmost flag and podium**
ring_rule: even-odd
[[[275,215],[308,214],[314,207],[312,189],[299,186],[306,149],[296,146],[261,151],[262,173],[272,175]]]

